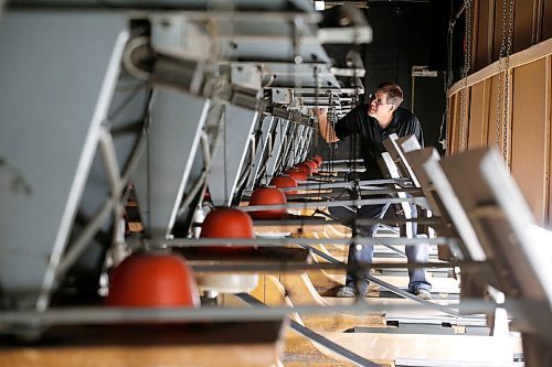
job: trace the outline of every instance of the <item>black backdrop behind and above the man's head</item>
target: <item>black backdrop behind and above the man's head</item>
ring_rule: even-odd
[[[369,8],[362,11],[372,28],[372,43],[352,46],[363,58],[367,71],[364,89],[367,93],[373,91],[379,83],[385,80],[397,83],[404,91],[402,107],[412,110],[414,101],[413,111],[424,129],[425,145],[433,145],[443,153],[439,134],[446,102],[447,30],[450,8],[455,7],[456,11],[458,7],[449,0],[370,3],[368,1]],[[456,42],[461,42],[463,32],[464,25],[457,23]],[[351,46],[327,45],[326,50],[338,64],[342,64]],[[458,60],[463,58],[461,54],[458,56],[458,51],[455,50],[455,63],[450,65],[455,74],[458,74],[460,66]],[[437,77],[415,77],[413,89],[414,65],[437,71]],[[352,152],[350,140],[337,143],[335,159],[349,159]],[[329,147],[322,139],[316,139],[314,145],[314,153],[329,156]]]

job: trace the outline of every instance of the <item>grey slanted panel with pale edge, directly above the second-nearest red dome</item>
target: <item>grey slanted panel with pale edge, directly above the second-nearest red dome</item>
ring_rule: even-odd
[[[149,236],[166,238],[171,234],[209,107],[208,99],[155,88],[146,154],[132,176]]]

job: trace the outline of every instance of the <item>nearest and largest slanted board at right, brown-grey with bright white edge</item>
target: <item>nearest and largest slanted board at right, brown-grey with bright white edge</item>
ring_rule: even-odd
[[[508,299],[522,299],[531,309],[520,310],[513,317],[522,331],[523,354],[528,366],[545,366],[552,359],[550,335],[552,314],[552,272],[540,245],[529,231],[534,219],[516,183],[507,172],[498,152],[471,150],[440,162],[442,182],[437,186],[443,196],[452,188],[457,195],[456,208],[466,218],[459,224],[470,226],[479,240],[481,251],[491,263],[496,279],[470,274],[470,294],[489,292],[498,304]],[[427,172],[429,173],[429,172]],[[469,174],[470,180],[464,177]],[[440,187],[440,188],[439,188]],[[456,203],[452,203],[456,204]],[[461,233],[460,233],[461,235]],[[501,292],[493,291],[498,288]]]

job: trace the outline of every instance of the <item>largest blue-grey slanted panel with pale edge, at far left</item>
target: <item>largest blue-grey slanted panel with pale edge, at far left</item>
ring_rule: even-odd
[[[0,79],[13,86],[0,101],[6,121],[0,155],[17,172],[15,176],[2,170],[1,176],[2,207],[12,209],[0,214],[0,282],[9,302],[44,309],[95,151],[100,141],[109,147],[102,123],[128,37],[126,17],[6,10],[0,30],[6,54]],[[39,69],[40,75],[30,73]],[[59,93],[52,94],[52,88]],[[22,137],[24,143],[17,143]],[[68,139],[52,145],[49,138],[57,137]],[[112,172],[114,160],[108,150],[104,152]],[[17,188],[19,181],[26,193]]]

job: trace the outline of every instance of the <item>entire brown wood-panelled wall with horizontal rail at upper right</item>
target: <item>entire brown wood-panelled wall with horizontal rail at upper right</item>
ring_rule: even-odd
[[[468,148],[482,145],[498,149],[502,156],[505,110],[509,110],[507,164],[537,219],[550,225],[552,0],[513,1],[516,9],[512,54],[508,60],[498,62],[505,3],[508,7],[510,0],[475,2],[475,72],[466,79],[458,80],[448,90],[452,127],[447,155],[459,152],[460,97],[461,90],[467,86],[471,93]],[[506,18],[508,21],[508,14]],[[499,73],[505,67],[508,67],[508,72]],[[510,82],[508,101],[505,100],[507,75]]]

